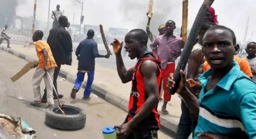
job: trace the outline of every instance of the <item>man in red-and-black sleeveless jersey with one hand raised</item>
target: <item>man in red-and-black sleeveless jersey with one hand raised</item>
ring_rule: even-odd
[[[125,36],[125,43],[128,57],[138,60],[134,67],[127,70],[121,57],[123,42],[115,39],[111,43],[121,81],[132,81],[128,115],[122,125],[115,126],[119,131],[117,139],[157,139],[160,127],[157,106],[161,87],[161,61],[148,51],[148,35],[145,31],[131,30]]]

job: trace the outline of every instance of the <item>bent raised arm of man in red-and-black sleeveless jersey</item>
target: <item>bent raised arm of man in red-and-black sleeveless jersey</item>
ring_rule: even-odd
[[[118,76],[123,83],[131,81],[133,68],[127,70],[121,56],[123,42],[120,43],[117,39],[115,39],[115,41],[111,42],[111,45],[113,46],[113,50],[116,55],[116,68]]]

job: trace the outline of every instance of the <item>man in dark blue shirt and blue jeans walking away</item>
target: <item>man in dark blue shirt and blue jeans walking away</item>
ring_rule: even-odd
[[[76,93],[81,87],[81,83],[84,80],[84,75],[87,73],[87,84],[83,93],[84,100],[90,99],[92,91],[92,84],[94,78],[95,58],[109,58],[109,55],[100,55],[97,48],[97,43],[93,40],[94,31],[88,30],[87,38],[82,40],[79,46],[76,48],[76,56],[78,59],[78,72],[77,79],[74,84],[74,88],[71,91],[71,98],[76,98]]]

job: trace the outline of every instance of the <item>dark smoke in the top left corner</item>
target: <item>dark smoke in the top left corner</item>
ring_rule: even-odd
[[[17,0],[0,0],[0,27],[11,26],[15,21]]]

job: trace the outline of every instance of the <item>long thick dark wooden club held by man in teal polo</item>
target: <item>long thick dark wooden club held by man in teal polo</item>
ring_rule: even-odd
[[[199,34],[199,31],[203,25],[204,18],[206,17],[206,14],[208,12],[209,7],[212,5],[214,0],[204,0],[201,8],[198,11],[197,17],[193,23],[193,26],[191,28],[191,31],[188,35],[186,44],[184,46],[184,49],[181,53],[180,60],[178,62],[177,68],[174,73],[174,80],[175,80],[175,87],[169,90],[171,94],[175,94],[176,90],[179,87],[179,82],[181,80],[180,77],[180,70],[184,70],[186,67],[187,60],[190,56],[190,53],[192,51],[192,48],[194,44],[196,43],[197,36]]]

